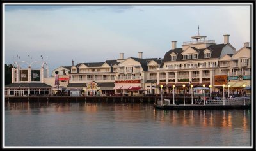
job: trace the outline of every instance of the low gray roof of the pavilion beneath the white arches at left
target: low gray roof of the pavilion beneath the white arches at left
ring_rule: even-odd
[[[5,85],[5,87],[19,88],[20,87],[29,87],[29,88],[51,88],[51,85],[47,85],[45,83],[11,83]]]

